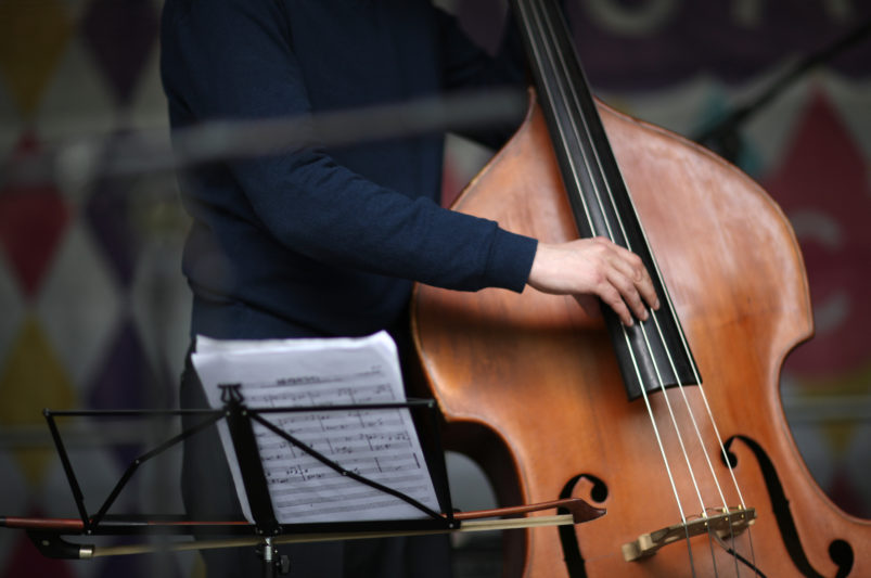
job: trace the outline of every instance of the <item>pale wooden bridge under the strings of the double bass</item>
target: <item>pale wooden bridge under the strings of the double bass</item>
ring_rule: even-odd
[[[623,557],[626,562],[645,558],[664,545],[678,540],[689,540],[702,534],[713,535],[718,540],[731,539],[746,530],[755,521],[755,508],[730,508],[714,516],[703,513],[701,517],[688,521],[686,524],[675,524],[650,534],[642,534],[638,540],[623,544]]]

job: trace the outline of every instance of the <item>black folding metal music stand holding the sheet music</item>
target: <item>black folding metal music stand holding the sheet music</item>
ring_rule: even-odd
[[[283,407],[283,408],[258,408],[253,409],[244,404],[244,399],[236,384],[222,387],[221,401],[223,407],[217,410],[79,410],[79,411],[51,411],[43,410],[49,431],[51,433],[57,455],[64,468],[73,499],[79,514],[78,519],[53,521],[53,525],[47,528],[46,524],[40,527],[27,528],[28,537],[40,551],[41,554],[56,558],[82,558],[90,557],[93,547],[87,544],[72,543],[63,539],[64,536],[85,535],[85,536],[121,536],[121,535],[143,535],[143,534],[165,534],[181,536],[256,536],[262,538],[258,554],[262,560],[262,576],[272,577],[283,561],[276,558],[276,550],[272,545],[272,538],[279,535],[291,534],[325,534],[325,532],[379,532],[379,531],[414,531],[414,530],[448,530],[460,527],[460,521],[454,518],[453,509],[450,501],[450,491],[447,483],[447,468],[445,466],[444,452],[437,427],[437,408],[432,399],[409,399],[405,402],[392,403],[366,403],[353,406],[319,406],[319,407]],[[408,409],[418,411],[418,420],[414,421],[415,429],[421,438],[424,459],[428,466],[430,475],[435,488],[436,498],[443,513],[438,513],[426,505],[418,502],[410,496],[402,493],[394,488],[386,487],[377,481],[361,476],[344,468],[338,463],[330,460],[325,455],[312,450],[305,444],[297,440],[291,434],[277,427],[266,420],[262,414],[291,413],[291,412],[332,412],[332,411],[377,411]],[[57,427],[55,418],[131,418],[131,416],[168,416],[168,415],[202,415],[200,423],[182,429],[179,434],[158,444],[155,448],[144,452],[132,460],[127,470],[121,474],[108,497],[102,503],[98,512],[90,515],[85,505],[85,497],[81,491],[78,478],[76,477],[73,463],[67,453],[66,447]],[[232,439],[233,448],[239,461],[244,491],[251,504],[254,523],[247,521],[193,521],[183,515],[153,514],[118,516],[108,514],[110,509],[115,503],[121,490],[127,486],[140,465],[165,452],[171,447],[177,446],[184,439],[216,426],[221,420],[227,421],[227,425]],[[279,524],[272,508],[272,502],[268,493],[267,479],[264,466],[260,461],[257,448],[253,422],[257,422],[267,427],[274,434],[282,437],[289,444],[308,453],[316,460],[325,464],[330,468],[338,472],[343,476],[350,477],[379,491],[398,498],[420,510],[425,517],[415,519],[382,519],[382,521],[347,521],[347,522],[325,522],[325,523],[300,523],[300,524]],[[420,434],[426,434],[422,436]],[[232,459],[228,455],[228,460]],[[2,518],[0,525],[7,524],[12,518]]]

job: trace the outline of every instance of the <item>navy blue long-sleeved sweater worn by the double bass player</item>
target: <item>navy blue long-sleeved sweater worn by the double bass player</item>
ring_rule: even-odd
[[[167,0],[174,128],[518,81],[421,0]],[[192,334],[362,335],[413,281],[523,291],[535,240],[438,205],[440,136],[212,164],[180,179]]]

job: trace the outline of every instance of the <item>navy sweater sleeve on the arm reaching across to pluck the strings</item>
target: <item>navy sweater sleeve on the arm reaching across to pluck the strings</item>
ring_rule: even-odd
[[[311,114],[279,2],[187,9],[165,15],[164,42],[178,60],[164,62],[164,82],[192,118]],[[230,171],[245,197],[236,217],[310,258],[448,288],[523,291],[526,283],[535,240],[380,187],[321,150],[234,162]]]

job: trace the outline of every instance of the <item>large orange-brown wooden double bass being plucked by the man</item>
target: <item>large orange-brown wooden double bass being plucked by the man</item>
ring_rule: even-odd
[[[871,576],[871,522],[815,484],[779,398],[812,334],[777,204],[703,147],[590,94],[552,0],[512,0],[527,117],[456,210],[556,243],[638,254],[662,307],[620,324],[534,290],[419,285],[412,330],[454,449],[503,503],[607,513],[509,537],[508,576]]]

